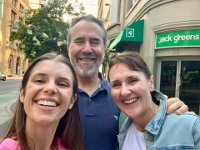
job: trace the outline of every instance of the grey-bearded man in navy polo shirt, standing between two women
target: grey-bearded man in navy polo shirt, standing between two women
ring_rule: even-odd
[[[99,73],[106,42],[101,20],[91,15],[73,19],[67,49],[78,78],[78,103],[87,150],[114,150],[117,143],[119,109],[112,99],[109,82]],[[168,100],[168,105],[169,113],[178,108],[179,113],[188,110],[177,98]]]

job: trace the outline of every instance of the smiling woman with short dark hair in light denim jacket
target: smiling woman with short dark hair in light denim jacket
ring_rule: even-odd
[[[166,98],[154,90],[153,76],[137,53],[115,54],[108,77],[113,99],[122,111],[119,150],[200,149],[200,117],[166,115]]]

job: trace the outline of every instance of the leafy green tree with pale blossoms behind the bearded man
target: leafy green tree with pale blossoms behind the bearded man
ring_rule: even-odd
[[[50,0],[40,9],[26,10],[24,20],[18,22],[10,41],[19,41],[19,50],[30,61],[49,51],[61,51],[67,56],[66,34],[69,21],[64,22],[63,15],[73,17],[84,14],[84,7],[77,7],[68,0]]]

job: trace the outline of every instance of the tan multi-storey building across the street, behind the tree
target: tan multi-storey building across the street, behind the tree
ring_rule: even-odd
[[[28,0],[1,0],[0,3],[0,72],[7,76],[21,76],[28,66],[18,41],[10,42],[10,34],[23,21],[24,10],[29,9]]]

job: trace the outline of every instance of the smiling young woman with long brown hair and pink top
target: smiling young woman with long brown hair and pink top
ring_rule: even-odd
[[[37,58],[24,74],[0,150],[84,150],[77,90],[75,72],[65,57],[51,52]]]

